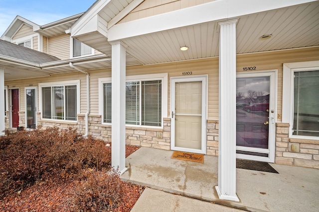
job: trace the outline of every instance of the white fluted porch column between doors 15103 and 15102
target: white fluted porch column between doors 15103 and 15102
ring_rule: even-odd
[[[239,201],[236,195],[236,20],[219,23],[219,199]]]

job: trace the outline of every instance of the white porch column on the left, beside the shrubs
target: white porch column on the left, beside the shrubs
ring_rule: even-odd
[[[112,44],[112,167],[125,167],[125,76],[126,48],[123,43]]]

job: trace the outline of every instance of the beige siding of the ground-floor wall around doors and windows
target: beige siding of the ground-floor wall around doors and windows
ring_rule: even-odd
[[[287,51],[274,51],[267,53],[245,54],[237,56],[237,72],[243,72],[243,67],[256,67],[256,71],[278,70],[277,78],[277,114],[282,113],[282,86],[283,86],[283,63],[304,62],[319,60],[319,47],[304,48]],[[150,66],[129,66],[126,68],[127,75],[141,75],[153,73],[168,73],[168,99],[167,111],[170,111],[170,78],[182,77],[182,72],[191,71],[191,76],[208,75],[208,97],[207,97],[207,118],[218,120],[218,75],[219,59],[209,58]],[[99,114],[99,84],[98,79],[111,77],[111,69],[93,70],[90,73],[90,114]],[[245,71],[249,72],[249,71]],[[251,71],[253,72],[253,71]],[[30,78],[23,80],[5,81],[8,88],[20,88],[20,111],[24,111],[24,87],[37,86],[40,82],[54,82],[80,79],[81,99],[80,112],[86,112],[86,75],[81,72],[54,74],[47,77]],[[168,115],[169,117],[169,115]],[[280,119],[277,119],[280,122]]]

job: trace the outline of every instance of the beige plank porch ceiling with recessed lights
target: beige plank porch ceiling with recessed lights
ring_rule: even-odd
[[[237,54],[283,50],[319,45],[319,1],[296,6],[258,12],[234,17]],[[127,45],[127,55],[133,64],[158,64],[200,58],[216,57],[219,54],[218,22],[159,31],[151,34],[122,39]],[[263,35],[272,35],[268,40],[259,40]],[[82,40],[83,39],[83,40]],[[111,45],[94,42],[89,35],[82,42],[111,56]],[[187,46],[188,51],[180,51]]]

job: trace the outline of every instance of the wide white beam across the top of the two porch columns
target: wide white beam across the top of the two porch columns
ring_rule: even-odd
[[[222,21],[242,15],[312,2],[314,0],[217,0],[159,15],[116,24],[109,29],[108,40],[155,33],[210,21]]]

